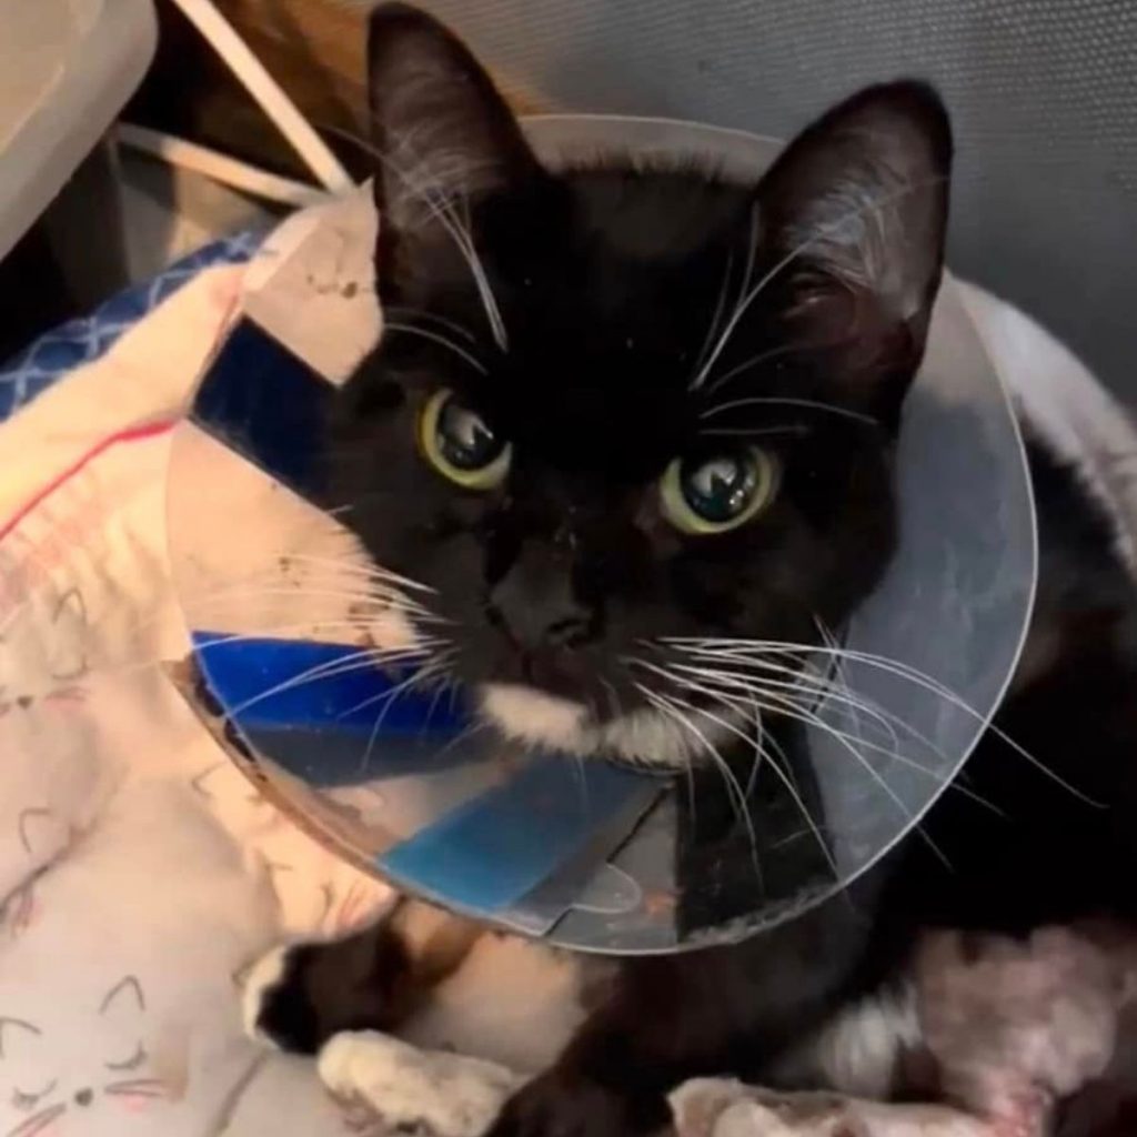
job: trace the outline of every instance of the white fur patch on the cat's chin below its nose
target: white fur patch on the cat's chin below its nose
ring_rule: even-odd
[[[640,707],[597,723],[588,707],[520,683],[482,687],[482,713],[506,738],[580,757],[604,755],[637,765],[681,770],[707,757],[707,747],[729,731],[696,716],[703,738],[653,707]]]

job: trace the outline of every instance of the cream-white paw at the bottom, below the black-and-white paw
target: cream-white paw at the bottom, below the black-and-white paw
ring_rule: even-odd
[[[319,1077],[385,1128],[430,1137],[482,1137],[518,1078],[492,1062],[420,1051],[374,1031],[337,1035],[319,1053]]]

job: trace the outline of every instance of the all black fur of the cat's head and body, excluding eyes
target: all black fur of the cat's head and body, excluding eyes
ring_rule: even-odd
[[[871,89],[747,186],[620,161],[543,171],[465,48],[407,8],[374,17],[371,67],[385,156],[380,293],[393,326],[340,407],[333,492],[355,503],[350,523],[379,562],[438,590],[441,614],[463,629],[460,677],[571,694],[603,717],[608,684],[625,707],[637,700],[622,659],[641,640],[810,641],[815,615],[839,624],[893,549],[893,440],[947,210],[951,138],[937,97],[914,83]],[[450,183],[466,196],[463,224],[507,348],[439,200],[418,192]],[[692,391],[721,290],[742,287],[752,241],[749,279],[769,285]],[[454,339],[451,325],[472,335],[454,340],[460,351],[438,341]],[[715,390],[716,376],[757,357],[766,362]],[[463,492],[422,460],[414,424],[440,387],[512,442],[500,488]],[[753,435],[783,466],[780,492],[739,530],[683,537],[661,515],[659,474],[678,455],[729,447],[700,414],[756,397],[850,414],[722,410],[716,429],[791,428]],[[1021,932],[1137,915],[1132,588],[1070,472],[1037,447],[1031,470],[1041,587],[1028,666],[998,723],[1084,797],[988,733],[962,777],[989,805],[949,789],[922,827],[943,860],[913,836],[850,894],[772,932],[629,962],[493,1137],[646,1132],[684,1078],[769,1080],[786,1046],[888,982],[930,924]],[[555,634],[566,620],[587,631],[568,645]]]

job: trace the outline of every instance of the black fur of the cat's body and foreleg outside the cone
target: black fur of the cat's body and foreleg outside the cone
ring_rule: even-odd
[[[1047,665],[1012,694],[997,723],[1102,804],[1073,796],[988,733],[963,775],[988,805],[945,792],[921,824],[938,854],[911,836],[848,893],[772,932],[629,962],[616,997],[509,1104],[493,1137],[648,1132],[665,1119],[666,1090],[698,1074],[775,1085],[782,1048],[903,973],[922,929],[1020,935],[1074,920],[1137,921],[1134,589],[1076,475],[1038,447],[1031,472],[1041,576],[1027,655],[1043,650]],[[1114,1079],[1092,1101],[1112,1111],[1135,1096],[1131,1082]],[[1098,1128],[1096,1107],[1070,1103],[1064,1137],[1114,1132]]]

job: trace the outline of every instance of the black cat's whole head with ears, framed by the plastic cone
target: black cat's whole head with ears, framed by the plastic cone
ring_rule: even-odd
[[[379,9],[368,58],[387,330],[335,416],[345,520],[507,733],[677,762],[677,708],[754,697],[700,691],[707,653],[816,642],[891,555],[944,107],[871,88],[753,184],[551,172],[432,19]]]

